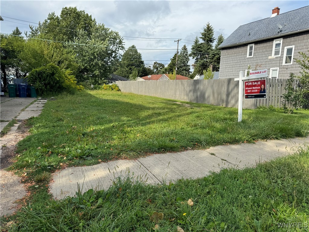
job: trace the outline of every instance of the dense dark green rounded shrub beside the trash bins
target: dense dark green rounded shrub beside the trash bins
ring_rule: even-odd
[[[36,88],[38,95],[61,92],[64,90],[65,75],[54,64],[33,69],[28,77],[28,84]]]

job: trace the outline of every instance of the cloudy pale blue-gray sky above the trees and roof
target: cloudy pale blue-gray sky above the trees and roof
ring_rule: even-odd
[[[1,0],[1,32],[11,33],[18,26],[24,32],[27,22],[38,23],[48,13],[60,14],[62,7],[77,6],[124,36],[125,47],[136,45],[138,49],[176,49],[200,36],[207,22],[214,27],[215,37],[220,33],[226,38],[240,25],[271,16],[272,9],[280,8],[280,14],[308,5],[308,1],[5,1]],[[20,19],[8,19],[7,17]],[[14,21],[14,22],[9,22]],[[27,24],[27,25],[23,25]],[[36,25],[36,24],[32,24]],[[140,38],[164,38],[149,41]],[[143,41],[144,40],[144,41]],[[139,50],[145,64],[154,61],[167,64],[174,50]]]

